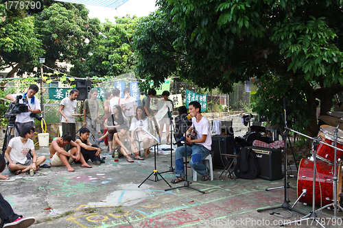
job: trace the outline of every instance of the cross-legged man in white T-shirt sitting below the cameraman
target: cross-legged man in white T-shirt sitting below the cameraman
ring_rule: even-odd
[[[33,169],[39,169],[39,165],[45,161],[45,156],[37,158],[36,151],[34,150],[34,127],[26,125],[21,130],[21,136],[15,137],[10,140],[8,147],[5,151],[5,157],[8,160],[8,169],[15,175],[25,173]],[[31,150],[32,160],[27,159],[26,155]]]

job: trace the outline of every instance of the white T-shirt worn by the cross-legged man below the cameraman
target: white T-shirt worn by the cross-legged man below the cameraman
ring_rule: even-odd
[[[29,150],[34,149],[34,141],[31,138],[27,139],[27,142],[23,144],[20,137],[12,138],[8,143],[8,147],[11,147],[10,158],[12,162],[19,162],[24,164],[27,160],[26,155]]]

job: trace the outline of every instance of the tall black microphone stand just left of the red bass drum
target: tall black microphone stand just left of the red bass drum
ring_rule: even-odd
[[[283,201],[283,204],[279,207],[268,207],[268,208],[265,208],[265,209],[259,209],[257,210],[257,212],[264,212],[266,210],[274,210],[274,209],[287,209],[287,210],[291,210],[291,211],[294,211],[294,212],[298,212],[299,214],[303,214],[305,215],[305,213],[303,212],[299,212],[298,210],[295,210],[294,208],[292,207],[289,207],[289,199],[288,199],[288,188],[287,188],[287,143],[286,143],[286,139],[287,139],[287,136],[288,136],[288,129],[287,128],[287,121],[286,121],[286,103],[287,103],[287,98],[284,98],[283,99],[283,110],[285,111],[285,132],[283,133],[283,140],[285,141],[285,147],[284,147],[284,154],[285,154],[285,161],[284,161],[284,168],[285,168],[285,178],[284,178],[284,181],[283,181],[283,188],[284,188],[284,201]]]

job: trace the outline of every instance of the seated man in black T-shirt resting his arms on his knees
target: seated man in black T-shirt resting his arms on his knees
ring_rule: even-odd
[[[84,161],[91,160],[93,164],[99,165],[105,163],[104,160],[100,159],[100,152],[102,151],[101,148],[97,147],[97,144],[91,144],[89,142],[89,134],[91,131],[86,127],[81,127],[80,129],[80,137],[75,140],[77,144],[81,147],[81,153],[84,156]]]

